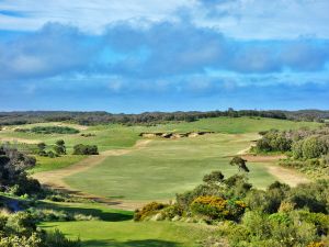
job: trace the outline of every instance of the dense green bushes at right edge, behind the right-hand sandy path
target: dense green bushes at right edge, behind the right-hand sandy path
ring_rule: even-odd
[[[272,130],[261,133],[256,153],[284,153],[287,159],[281,165],[297,168],[314,177],[329,177],[329,127],[280,132]]]

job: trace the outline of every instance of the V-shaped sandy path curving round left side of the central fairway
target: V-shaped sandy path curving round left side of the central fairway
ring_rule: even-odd
[[[92,167],[95,167],[95,166],[100,165],[101,162],[103,162],[107,157],[126,155],[126,154],[129,154],[131,151],[141,149],[141,148],[146,147],[150,142],[151,142],[150,139],[141,139],[141,141],[138,141],[135,144],[135,146],[132,148],[102,151],[100,155],[89,156],[88,158],[82,159],[81,161],[79,161],[75,165],[71,165],[67,168],[53,170],[53,171],[38,172],[38,173],[32,175],[32,177],[37,179],[44,186],[52,187],[53,189],[65,191],[70,194],[81,197],[84,199],[91,199],[97,202],[111,205],[111,207],[124,209],[124,210],[135,210],[137,207],[140,207],[143,204],[145,204],[145,202],[121,201],[121,200],[106,199],[103,197],[86,193],[83,191],[79,191],[79,190],[71,188],[69,184],[67,184],[64,181],[64,178],[69,177],[75,173],[86,171],[88,169],[91,169]]]

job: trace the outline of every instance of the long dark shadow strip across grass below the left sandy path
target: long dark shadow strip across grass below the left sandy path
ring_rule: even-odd
[[[63,204],[56,204],[50,202],[39,202],[37,205],[38,209],[50,209],[55,211],[65,211],[69,213],[92,215],[94,217],[99,217],[105,222],[122,222],[122,221],[131,221],[133,220],[133,212],[129,211],[120,211],[120,210],[100,210],[100,209],[88,209],[88,207],[79,207],[79,206],[67,206]]]

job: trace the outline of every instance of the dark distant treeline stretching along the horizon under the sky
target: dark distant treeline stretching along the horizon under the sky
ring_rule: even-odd
[[[329,111],[300,110],[300,111],[257,111],[228,109],[227,111],[208,112],[145,112],[140,114],[112,114],[107,112],[64,112],[64,111],[29,111],[29,112],[0,112],[0,125],[20,125],[42,122],[73,122],[82,125],[106,123],[121,124],[155,124],[170,121],[193,122],[200,119],[217,116],[256,116],[294,121],[322,122],[329,119]]]

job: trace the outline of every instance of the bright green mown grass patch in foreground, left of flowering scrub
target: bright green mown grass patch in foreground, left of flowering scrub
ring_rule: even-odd
[[[198,247],[211,232],[205,225],[172,222],[56,222],[42,228],[58,228],[69,238],[80,237],[83,247]]]

